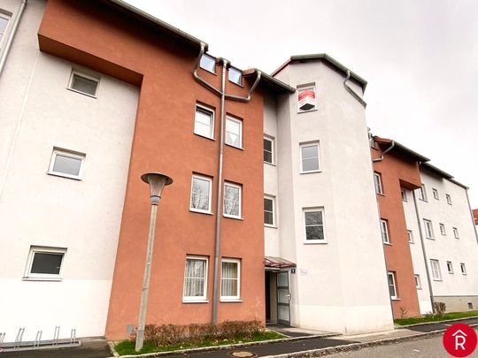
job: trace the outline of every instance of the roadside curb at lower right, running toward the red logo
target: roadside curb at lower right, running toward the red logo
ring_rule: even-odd
[[[470,324],[471,327],[478,327],[478,324]],[[378,340],[371,340],[370,342],[363,342],[363,343],[351,343],[349,345],[342,345],[342,346],[335,346],[335,347],[326,347],[326,348],[319,348],[319,349],[310,349],[307,351],[302,352],[294,352],[294,353],[287,353],[287,354],[276,354],[276,355],[265,355],[261,358],[305,358],[305,357],[320,357],[328,354],[334,353],[342,353],[342,352],[349,352],[349,351],[357,351],[361,348],[366,347],[376,347],[376,346],[383,346],[394,344],[398,342],[405,342],[408,340],[418,340],[424,338],[432,338],[434,336],[440,335],[446,330],[437,330],[437,331],[428,331],[424,333],[417,333],[412,334],[410,336],[404,337],[397,337],[391,339],[378,339]]]

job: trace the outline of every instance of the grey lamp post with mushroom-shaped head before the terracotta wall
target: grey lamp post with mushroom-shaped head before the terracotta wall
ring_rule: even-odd
[[[154,244],[154,232],[156,230],[156,213],[158,212],[158,204],[161,199],[161,193],[165,186],[173,183],[173,179],[160,172],[147,172],[141,176],[141,179],[150,185],[150,232],[148,234],[148,249],[146,251],[146,265],[144,266],[143,290],[141,293],[140,314],[138,320],[138,332],[136,334],[135,350],[139,352],[143,348],[144,342],[144,325],[146,321],[146,308],[148,306],[148,293],[150,291],[150,272],[152,249]]]

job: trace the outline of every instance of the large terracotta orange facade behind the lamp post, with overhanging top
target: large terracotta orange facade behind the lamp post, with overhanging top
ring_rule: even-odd
[[[124,339],[127,325],[137,324],[150,219],[149,188],[140,176],[148,171],[164,172],[174,183],[158,210],[146,323],[211,322],[220,97],[193,79],[199,47],[109,2],[59,0],[47,4],[39,42],[44,52],[141,86],[106,337]],[[217,65],[217,75],[199,74],[220,88],[220,71]],[[246,95],[253,77],[243,87],[227,81],[227,93]],[[220,302],[219,322],[265,320],[262,90],[250,103],[226,101],[226,113],[243,120],[243,149],[225,146],[223,173],[242,186],[243,219],[221,217],[220,257],[241,260],[242,301]],[[215,110],[214,140],[193,132],[197,103]],[[212,215],[189,211],[193,173],[212,178]],[[182,302],[187,255],[209,258],[208,302]]]

